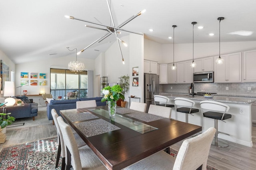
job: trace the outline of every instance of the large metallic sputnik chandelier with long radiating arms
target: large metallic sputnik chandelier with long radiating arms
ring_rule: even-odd
[[[85,47],[84,49],[81,49],[77,55],[79,55],[80,53],[82,53],[84,50],[86,50],[87,48],[89,48],[90,46],[92,46],[94,43],[96,42],[101,42],[102,40],[104,40],[105,38],[107,38],[108,36],[110,36],[111,34],[114,35],[116,37],[116,40],[118,42],[118,47],[120,49],[120,53],[121,53],[121,56],[122,56],[122,62],[124,64],[124,57],[123,57],[123,54],[122,54],[122,50],[121,50],[121,47],[120,47],[120,42],[125,46],[127,47],[127,44],[121,40],[120,38],[118,38],[117,34],[120,34],[120,32],[117,32],[117,30],[121,30],[121,31],[125,31],[125,32],[130,32],[130,33],[134,33],[134,34],[139,34],[139,35],[143,35],[141,33],[137,33],[137,32],[132,32],[132,31],[129,31],[129,30],[125,30],[125,29],[122,29],[122,27],[126,24],[128,24],[130,21],[132,21],[134,18],[136,18],[137,16],[140,16],[142,13],[144,13],[146,10],[142,10],[140,11],[138,14],[130,17],[128,20],[124,21],[122,24],[120,24],[119,26],[115,26],[114,24],[114,20],[113,20],[113,16],[112,16],[112,12],[111,12],[111,9],[110,9],[110,4],[107,1],[107,4],[108,4],[108,10],[109,10],[109,13],[110,13],[110,18],[111,18],[111,22],[112,22],[112,25],[113,26],[106,26],[104,24],[98,24],[98,23],[95,23],[95,22],[91,22],[91,21],[88,21],[88,20],[82,20],[82,19],[79,19],[79,18],[75,18],[73,16],[65,16],[66,18],[70,18],[70,19],[73,19],[73,20],[79,20],[79,21],[83,21],[83,22],[87,22],[87,23],[91,23],[91,24],[95,24],[95,25],[98,25],[98,26],[102,26],[102,28],[99,28],[99,27],[96,27],[96,26],[88,26],[88,25],[85,25],[86,27],[89,27],[89,28],[94,28],[94,29],[98,29],[98,30],[105,30],[107,31],[108,33],[105,34],[104,36],[98,38],[97,40],[95,40],[94,42],[90,43],[90,45],[88,45],[87,47]]]

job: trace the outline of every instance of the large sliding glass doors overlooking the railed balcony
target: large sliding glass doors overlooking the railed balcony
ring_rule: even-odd
[[[88,91],[87,71],[72,72],[66,69],[50,69],[50,91],[54,99],[86,98]],[[68,92],[78,91],[78,96],[68,97]]]

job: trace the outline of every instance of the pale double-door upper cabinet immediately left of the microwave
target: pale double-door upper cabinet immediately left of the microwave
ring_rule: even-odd
[[[192,83],[193,68],[190,67],[192,61],[177,63],[177,83]]]

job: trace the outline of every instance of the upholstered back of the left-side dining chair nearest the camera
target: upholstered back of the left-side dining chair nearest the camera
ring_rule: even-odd
[[[74,137],[74,134],[68,124],[66,124],[62,117],[57,118],[60,130],[62,132],[63,140],[65,141],[65,152],[71,154],[71,165],[74,170],[81,170],[82,164],[80,160],[80,154],[78,151],[78,146],[76,144],[76,139]],[[70,155],[67,155],[70,156]],[[66,157],[66,163],[67,163],[67,157]]]

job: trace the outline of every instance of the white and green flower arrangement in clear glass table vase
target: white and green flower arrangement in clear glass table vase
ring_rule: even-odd
[[[110,117],[114,117],[116,115],[116,101],[118,101],[118,99],[124,100],[122,90],[123,89],[120,85],[114,85],[112,87],[107,86],[102,89],[104,97],[101,99],[101,102],[108,101],[108,113]]]

